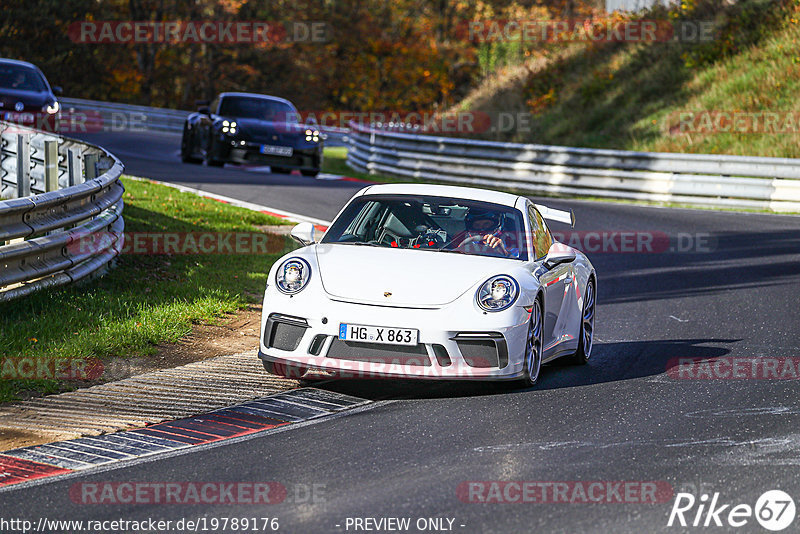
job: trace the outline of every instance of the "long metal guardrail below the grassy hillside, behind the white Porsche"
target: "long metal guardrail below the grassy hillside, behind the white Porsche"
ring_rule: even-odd
[[[800,212],[800,159],[499,143],[350,124],[347,163],[369,173],[699,206]]]

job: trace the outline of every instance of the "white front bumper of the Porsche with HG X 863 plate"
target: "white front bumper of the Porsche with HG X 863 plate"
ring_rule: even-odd
[[[520,305],[484,313],[472,306],[471,297],[418,309],[342,302],[311,288],[288,297],[268,287],[259,358],[350,378],[523,377],[528,312]],[[338,338],[340,323],[418,329],[419,344],[345,342]]]

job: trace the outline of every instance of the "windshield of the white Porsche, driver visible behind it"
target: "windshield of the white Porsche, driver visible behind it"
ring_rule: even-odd
[[[364,196],[342,212],[323,243],[527,260],[519,210],[435,196]]]

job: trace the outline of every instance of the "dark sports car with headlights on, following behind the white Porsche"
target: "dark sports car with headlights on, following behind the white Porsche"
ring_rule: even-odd
[[[303,124],[291,102],[252,93],[222,93],[186,119],[181,159],[269,165],[273,172],[298,169],[316,176],[322,165],[322,136],[315,125]]]

